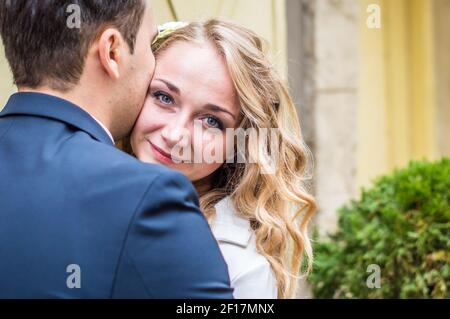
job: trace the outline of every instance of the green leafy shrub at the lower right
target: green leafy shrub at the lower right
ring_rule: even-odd
[[[339,230],[316,240],[316,298],[450,298],[450,159],[411,162],[341,208]],[[380,288],[368,288],[379,265]]]

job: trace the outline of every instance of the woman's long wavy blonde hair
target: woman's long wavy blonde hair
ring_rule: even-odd
[[[308,222],[315,212],[314,198],[304,189],[309,151],[304,144],[295,105],[254,32],[232,22],[212,19],[190,23],[153,44],[155,56],[177,41],[210,42],[223,56],[240,103],[242,129],[277,129],[267,145],[246,141],[245,158],[254,163],[224,163],[215,173],[212,189],[200,195],[200,206],[211,222],[214,205],[230,196],[238,213],[250,220],[258,251],[278,282],[278,297],[295,293],[306,254],[306,272],[312,268]],[[264,158],[276,140],[279,160],[274,174]],[[255,156],[255,154],[261,156]],[[237,156],[238,154],[236,154]]]

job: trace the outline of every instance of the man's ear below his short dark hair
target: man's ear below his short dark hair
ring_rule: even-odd
[[[98,40],[98,54],[105,72],[114,80],[120,77],[120,64],[124,54],[124,39],[120,32],[108,28]]]

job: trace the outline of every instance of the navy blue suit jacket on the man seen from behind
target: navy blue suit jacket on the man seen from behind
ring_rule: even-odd
[[[116,149],[78,106],[14,94],[0,113],[0,298],[232,298],[180,173]]]

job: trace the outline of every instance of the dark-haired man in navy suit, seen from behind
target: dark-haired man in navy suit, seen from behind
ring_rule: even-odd
[[[150,1],[6,0],[0,31],[19,90],[0,113],[0,298],[232,298],[189,181],[114,147],[154,71]]]

